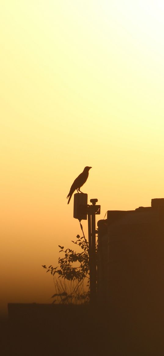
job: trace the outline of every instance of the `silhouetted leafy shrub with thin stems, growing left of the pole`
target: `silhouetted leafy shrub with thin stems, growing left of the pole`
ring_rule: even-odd
[[[83,227],[80,223],[81,230]],[[64,250],[64,246],[59,246],[60,251],[64,253],[64,257],[59,257],[57,267],[50,265],[42,265],[47,272],[50,272],[54,277],[56,293],[52,298],[57,297],[61,303],[75,302],[84,303],[89,301],[89,254],[88,242],[84,236],[76,236],[76,240],[72,241],[74,245],[79,246],[82,252],[76,252],[70,248]],[[56,278],[58,276],[58,278]],[[63,282],[59,280],[63,279]],[[84,281],[88,280],[88,290],[84,290]],[[69,282],[69,288],[68,283]],[[55,302],[55,300],[54,300]],[[54,303],[53,302],[53,303]]]

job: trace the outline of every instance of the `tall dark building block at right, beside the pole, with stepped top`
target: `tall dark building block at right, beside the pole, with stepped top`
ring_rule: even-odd
[[[164,355],[164,199],[108,211],[98,232],[99,304],[138,355]]]

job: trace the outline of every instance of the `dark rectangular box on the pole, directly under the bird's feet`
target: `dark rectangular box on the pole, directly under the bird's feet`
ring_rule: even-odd
[[[78,220],[87,220],[88,195],[84,193],[74,194],[73,217]]]

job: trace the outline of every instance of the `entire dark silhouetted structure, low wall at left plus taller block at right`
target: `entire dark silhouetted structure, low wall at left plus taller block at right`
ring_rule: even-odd
[[[164,355],[164,199],[97,225],[97,305],[9,304],[2,355]]]

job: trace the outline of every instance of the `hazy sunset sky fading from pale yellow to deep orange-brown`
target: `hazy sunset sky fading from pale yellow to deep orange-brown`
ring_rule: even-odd
[[[164,198],[163,19],[162,0],[2,1],[0,310],[52,301],[41,265],[81,234],[85,166],[96,221]]]

